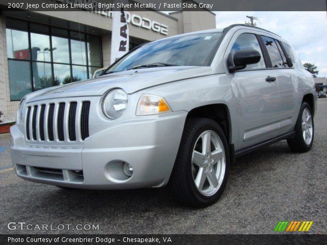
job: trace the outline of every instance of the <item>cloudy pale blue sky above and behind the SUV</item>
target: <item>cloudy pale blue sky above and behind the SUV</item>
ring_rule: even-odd
[[[318,77],[327,77],[327,13],[326,12],[215,12],[217,28],[249,21],[255,16],[256,26],[278,34],[297,52],[302,64],[312,63]]]

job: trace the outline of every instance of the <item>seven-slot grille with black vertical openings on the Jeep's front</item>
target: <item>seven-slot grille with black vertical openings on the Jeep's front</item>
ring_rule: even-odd
[[[90,102],[40,103],[27,108],[26,138],[33,141],[76,141],[89,136]]]

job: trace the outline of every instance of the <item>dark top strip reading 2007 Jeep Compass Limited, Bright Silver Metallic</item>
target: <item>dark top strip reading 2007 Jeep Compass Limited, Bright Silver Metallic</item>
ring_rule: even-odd
[[[327,0],[0,0],[2,11],[326,11]]]

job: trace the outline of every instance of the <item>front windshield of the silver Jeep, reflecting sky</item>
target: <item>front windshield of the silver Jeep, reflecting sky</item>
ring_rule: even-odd
[[[156,66],[208,66],[221,35],[200,33],[150,42],[115,63],[106,73]]]

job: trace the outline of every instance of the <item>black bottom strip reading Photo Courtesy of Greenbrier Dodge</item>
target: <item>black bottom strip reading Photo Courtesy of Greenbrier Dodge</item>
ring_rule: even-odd
[[[325,244],[327,235],[0,235],[0,244]]]

